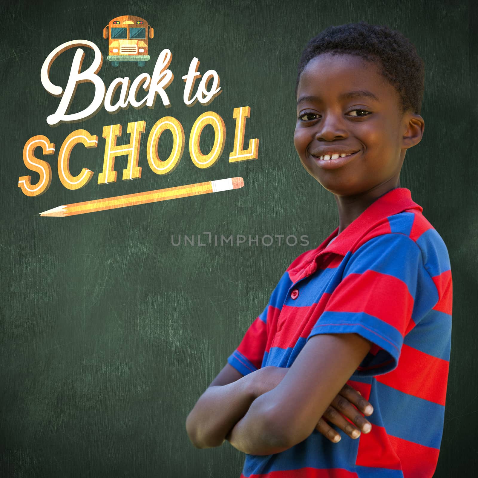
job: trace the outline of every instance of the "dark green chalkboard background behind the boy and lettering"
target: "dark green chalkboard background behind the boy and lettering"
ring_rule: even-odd
[[[121,15],[136,15],[153,28],[143,66],[107,59],[113,46],[103,29]],[[185,418],[285,268],[338,225],[333,196],[306,173],[294,149],[296,68],[307,41],[325,27],[363,20],[400,30],[425,63],[425,133],[406,155],[401,184],[423,206],[452,264],[453,338],[435,477],[471,476],[478,465],[477,119],[476,94],[470,96],[478,73],[475,16],[465,0],[3,2],[0,475],[239,477],[243,454],[228,443],[194,448]],[[158,96],[153,108],[112,114],[102,106],[90,118],[49,125],[60,98],[43,86],[42,66],[55,48],[74,40],[98,46],[98,76],[106,88],[118,77],[133,82],[152,75],[168,49],[170,105]],[[94,52],[83,49],[86,68]],[[65,88],[75,52],[54,59],[52,84]],[[202,75],[214,70],[220,77],[221,92],[207,105],[188,106],[183,98],[182,77],[193,58]],[[139,91],[138,97],[146,95]],[[91,83],[80,84],[68,112],[86,109],[94,94]],[[258,140],[257,158],[230,162],[234,109],[242,107],[250,109],[244,148]],[[223,120],[225,138],[217,161],[198,167],[189,141],[207,111]],[[184,153],[174,170],[158,174],[148,161],[148,138],[165,116],[183,128]],[[121,125],[120,145],[129,141],[128,123],[141,121],[137,166],[118,156],[116,181],[98,182],[109,141],[104,127]],[[70,171],[77,176],[85,168],[92,177],[69,189],[59,177],[58,158],[65,139],[79,129],[97,143],[73,148]],[[23,161],[35,136],[54,144],[50,155],[35,150],[50,164],[51,182],[43,194],[27,196],[18,183],[28,175],[33,184],[39,181]],[[159,158],[169,156],[173,138],[170,132],[161,136]],[[199,146],[204,152],[215,146],[213,127],[205,127]],[[141,177],[123,179],[130,166],[141,167]],[[244,186],[70,217],[39,216],[57,206],[231,177],[242,177]],[[276,235],[298,240],[261,241]],[[198,236],[205,245],[198,245]],[[234,241],[221,245],[221,236]],[[259,241],[250,243],[249,236]]]

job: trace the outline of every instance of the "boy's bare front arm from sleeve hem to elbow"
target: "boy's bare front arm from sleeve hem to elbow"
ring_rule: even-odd
[[[302,442],[371,345],[358,334],[311,337],[277,387],[254,400],[226,438],[251,455],[280,453]]]

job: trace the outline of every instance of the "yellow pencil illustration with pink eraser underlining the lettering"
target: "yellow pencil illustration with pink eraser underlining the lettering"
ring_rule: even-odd
[[[205,183],[187,184],[183,186],[167,187],[155,191],[145,191],[144,193],[127,194],[125,196],[105,197],[103,199],[93,199],[82,203],[66,204],[57,206],[48,211],[40,213],[40,216],[65,217],[76,214],[85,214],[88,212],[104,211],[106,209],[115,209],[117,207],[136,206],[138,204],[154,203],[157,201],[167,201],[177,197],[197,196],[199,194],[218,193],[230,189],[239,189],[244,185],[241,177],[218,179],[216,181],[206,181]]]

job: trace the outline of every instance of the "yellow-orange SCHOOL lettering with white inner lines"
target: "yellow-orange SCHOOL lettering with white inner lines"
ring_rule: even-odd
[[[250,107],[243,106],[234,108],[233,118],[236,120],[236,132],[234,136],[233,151],[229,153],[229,163],[257,159],[259,152],[259,140],[249,140],[249,147],[244,149],[244,133],[246,118],[250,117]],[[214,128],[215,139],[211,151],[207,154],[201,152],[199,140],[206,125]],[[130,141],[127,144],[117,144],[121,137],[122,127],[120,124],[104,126],[102,136],[105,139],[105,151],[103,156],[103,170],[98,174],[98,184],[115,183],[117,171],[115,170],[115,158],[128,156],[128,164],[123,169],[122,179],[141,178],[141,166],[139,166],[141,134],[146,130],[146,121],[134,121],[128,123],[127,133]],[[159,158],[158,142],[164,131],[169,130],[173,135],[173,147],[169,157],[165,160]],[[226,127],[224,120],[213,111],[206,111],[195,121],[189,135],[189,154],[192,162],[201,169],[209,168],[217,162],[224,149],[226,139]],[[94,149],[98,146],[98,136],[91,135],[87,130],[75,130],[63,141],[58,154],[58,177],[61,183],[68,189],[75,190],[87,185],[93,178],[94,173],[83,168],[79,174],[73,176],[70,172],[70,155],[77,144],[85,148]],[[42,149],[43,155],[51,155],[55,152],[55,145],[46,136],[37,135],[30,138],[23,148],[23,162],[25,166],[40,175],[40,179],[33,184],[32,176],[21,176],[18,186],[26,196],[40,196],[48,190],[52,180],[52,168],[46,161],[34,155],[36,148]],[[185,148],[185,133],[181,123],[171,116],[165,116],[156,121],[148,135],[146,157],[150,169],[155,174],[169,174],[179,164]]]

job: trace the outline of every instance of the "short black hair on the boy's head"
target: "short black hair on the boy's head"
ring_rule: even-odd
[[[307,43],[298,66],[295,95],[305,66],[323,53],[351,54],[375,63],[397,90],[402,112],[420,114],[424,92],[424,62],[402,33],[366,22],[329,26]]]

